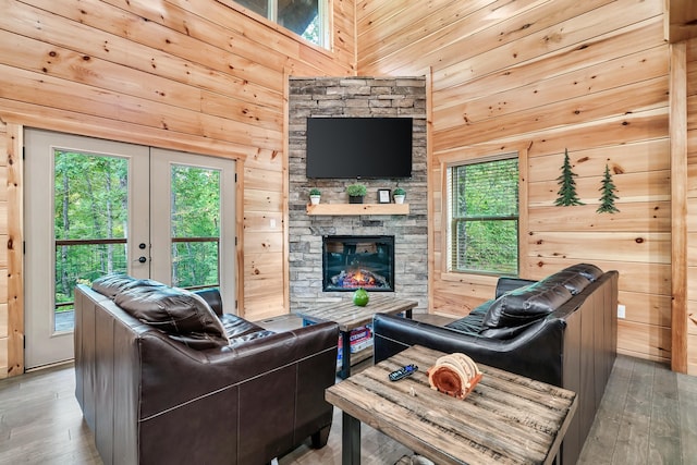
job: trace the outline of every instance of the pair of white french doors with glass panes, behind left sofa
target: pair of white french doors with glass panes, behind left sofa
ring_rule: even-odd
[[[73,358],[73,289],[109,272],[235,302],[232,160],[25,131],[25,367]]]

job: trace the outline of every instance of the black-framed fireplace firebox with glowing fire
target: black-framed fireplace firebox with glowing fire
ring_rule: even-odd
[[[322,237],[322,290],[394,291],[394,236]]]

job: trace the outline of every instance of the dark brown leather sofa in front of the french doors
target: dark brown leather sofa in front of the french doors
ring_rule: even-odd
[[[335,325],[273,333],[221,315],[215,291],[93,287],[75,290],[75,395],[106,464],[265,464],[327,443]]]

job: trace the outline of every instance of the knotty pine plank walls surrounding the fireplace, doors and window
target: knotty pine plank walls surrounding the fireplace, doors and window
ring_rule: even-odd
[[[333,48],[325,51],[230,0],[0,0],[0,136],[27,125],[237,159],[240,313],[258,319],[288,311],[288,76],[429,70],[432,311],[466,314],[494,283],[444,272],[445,163],[518,150],[527,160],[521,274],[542,278],[577,261],[617,269],[626,306],[620,352],[669,359],[663,1],[330,1]],[[687,50],[692,372],[696,48],[693,40]],[[4,152],[8,139],[0,139]],[[585,206],[553,206],[565,148]],[[616,215],[596,213],[606,164]],[[1,210],[7,197],[0,183],[2,241],[12,229]],[[7,264],[0,247],[0,273]],[[8,362],[7,294],[0,290],[0,377],[16,363]]]

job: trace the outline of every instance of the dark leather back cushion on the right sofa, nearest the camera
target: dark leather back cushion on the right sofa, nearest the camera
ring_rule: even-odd
[[[497,298],[487,310],[487,328],[518,327],[543,317],[572,297],[562,284],[540,281]]]

